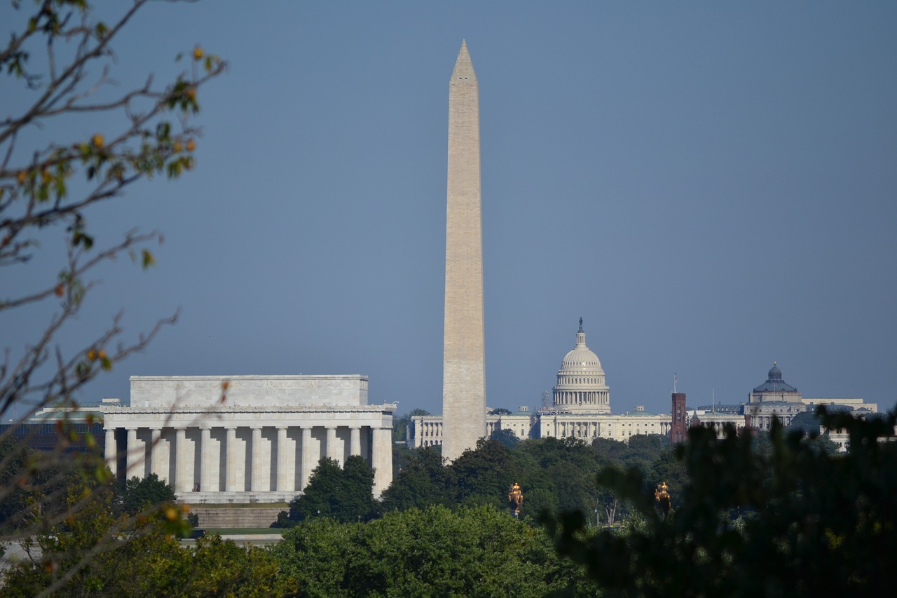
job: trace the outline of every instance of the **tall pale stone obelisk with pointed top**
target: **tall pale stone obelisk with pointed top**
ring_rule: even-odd
[[[474,65],[462,42],[448,84],[442,456],[449,462],[486,433],[479,102]]]

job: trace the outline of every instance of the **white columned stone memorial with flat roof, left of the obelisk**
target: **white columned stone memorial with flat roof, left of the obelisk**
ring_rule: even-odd
[[[374,494],[392,481],[394,404],[368,404],[362,375],[132,376],[130,406],[104,405],[119,477],[155,473],[179,501],[289,501],[322,457],[361,455]]]

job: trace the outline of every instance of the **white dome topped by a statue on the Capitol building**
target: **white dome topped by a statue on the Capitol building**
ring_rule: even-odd
[[[586,346],[586,333],[579,318],[576,347],[564,356],[553,389],[554,409],[588,413],[610,413],[610,388],[605,383],[601,360]]]

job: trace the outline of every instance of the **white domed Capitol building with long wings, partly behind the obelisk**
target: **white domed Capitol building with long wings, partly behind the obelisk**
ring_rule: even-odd
[[[586,345],[586,332],[579,319],[576,345],[564,356],[552,391],[552,406],[531,413],[526,406],[516,413],[486,416],[486,436],[508,429],[518,438],[581,438],[591,442],[609,438],[628,442],[631,435],[669,434],[670,414],[650,414],[644,407],[614,415],[611,390],[601,360]],[[442,417],[415,416],[408,427],[411,447],[442,444]]]

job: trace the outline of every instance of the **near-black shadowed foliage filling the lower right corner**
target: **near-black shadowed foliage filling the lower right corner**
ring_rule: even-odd
[[[869,595],[890,589],[897,554],[897,443],[888,417],[820,410],[849,431],[847,454],[808,443],[777,423],[769,451],[750,434],[695,427],[677,448],[687,478],[666,517],[640,470],[599,481],[639,516],[627,533],[584,533],[579,514],[550,520],[558,550],[609,595]]]

